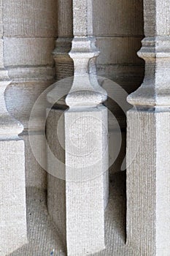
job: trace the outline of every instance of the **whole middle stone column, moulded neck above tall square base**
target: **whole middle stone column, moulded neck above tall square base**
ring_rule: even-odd
[[[55,156],[65,163],[63,170],[58,170],[48,154],[47,204],[62,240],[65,238],[67,255],[82,256],[104,249],[109,182],[107,108],[102,102],[107,99],[107,92],[96,77],[93,1],[74,0],[73,20],[74,39],[69,55],[74,61],[74,80],[66,97],[69,110],[63,116],[63,110],[60,113],[56,105],[47,111],[47,141]],[[57,91],[55,88],[47,95],[50,102],[55,102]],[[53,134],[57,132],[58,119],[60,141]],[[65,157],[59,146],[61,140],[65,141]]]

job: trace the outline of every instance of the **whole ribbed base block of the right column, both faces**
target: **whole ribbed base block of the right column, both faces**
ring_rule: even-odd
[[[169,255],[169,118],[128,112],[127,243],[140,255]]]

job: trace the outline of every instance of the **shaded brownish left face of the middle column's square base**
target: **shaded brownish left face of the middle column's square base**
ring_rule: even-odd
[[[63,110],[51,109],[48,111],[47,144],[56,159],[63,165],[58,165],[52,154],[47,151],[47,209],[61,236],[63,250],[66,250],[66,168],[63,117]],[[59,131],[60,133],[58,133]]]

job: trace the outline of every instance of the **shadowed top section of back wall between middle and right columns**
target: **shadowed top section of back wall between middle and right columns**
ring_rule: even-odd
[[[122,38],[142,35],[144,31],[142,9],[142,0],[93,0],[94,35]]]

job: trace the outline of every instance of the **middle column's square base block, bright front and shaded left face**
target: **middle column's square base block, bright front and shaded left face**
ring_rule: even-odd
[[[107,119],[104,121],[106,111],[107,109],[103,107],[102,110],[94,109],[93,112],[88,112],[87,110],[84,113],[79,111],[77,113],[70,113],[69,122],[73,121],[72,115],[74,118],[76,115],[77,121],[82,118],[82,122],[78,121],[80,126],[82,123],[82,126],[87,128],[86,130],[82,130],[81,127],[78,128],[80,132],[82,130],[82,135],[80,135],[80,132],[79,135],[77,134],[79,138],[85,139],[86,132],[88,132],[87,136],[90,135],[90,138],[91,136],[94,138],[92,144],[88,137],[85,139],[87,146],[81,149],[81,151],[85,150],[85,156],[84,154],[82,156],[81,154],[79,155],[78,151],[75,151],[72,155],[72,145],[69,146],[66,159],[70,161],[69,159],[74,157],[74,162],[77,163],[74,167],[72,162],[66,163],[65,160],[64,131],[66,129],[64,124],[69,127],[69,134],[75,131],[74,125],[77,124],[73,124],[73,127],[68,125],[68,117],[66,118],[66,116],[64,122],[63,110],[52,109],[48,113],[47,143],[55,157],[63,162],[63,165],[59,165],[56,159],[48,153],[47,208],[51,219],[55,223],[55,227],[57,227],[61,234],[63,248],[66,249],[67,247],[68,255],[84,255],[84,249],[87,252],[89,250],[90,252],[95,252],[102,248],[100,247],[101,245],[104,246],[102,244],[104,241],[104,208],[106,208],[108,203],[109,192],[108,173],[106,172],[108,152],[107,145],[104,145],[102,142],[104,141],[102,138],[105,136],[104,131],[102,135],[102,129],[107,129]],[[68,113],[66,114],[68,115]],[[73,128],[72,131],[71,127]],[[95,133],[93,133],[94,129]],[[67,148],[70,139],[74,143],[76,138],[73,135],[66,140]],[[77,148],[77,144],[75,146]],[[98,146],[100,146],[101,151],[98,151]],[[64,165],[65,163],[66,166]],[[67,175],[66,171],[68,171]],[[100,230],[101,227],[102,229]],[[99,233],[102,234],[101,241],[98,238],[98,243],[96,243],[96,236],[98,237]],[[100,246],[96,248],[96,245],[99,243],[101,243]]]

